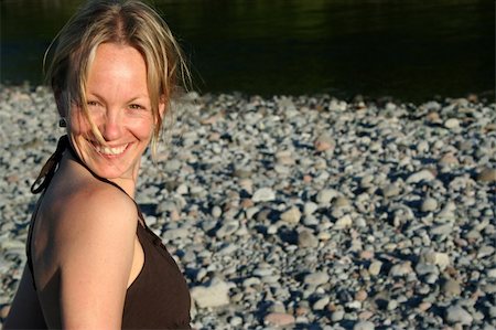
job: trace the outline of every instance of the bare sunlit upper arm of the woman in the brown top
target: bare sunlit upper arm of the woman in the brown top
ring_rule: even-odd
[[[120,329],[138,215],[114,188],[74,199],[54,246],[60,263],[61,327]]]

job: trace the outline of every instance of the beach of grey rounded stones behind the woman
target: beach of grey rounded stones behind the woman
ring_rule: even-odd
[[[137,202],[194,328],[496,329],[494,100],[190,93],[173,108]],[[57,121],[46,87],[0,86],[1,320]]]

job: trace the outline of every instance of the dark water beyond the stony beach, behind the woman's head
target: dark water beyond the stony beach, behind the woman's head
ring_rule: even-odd
[[[201,92],[494,97],[495,2],[157,0]],[[1,82],[42,81],[80,1],[0,0]]]

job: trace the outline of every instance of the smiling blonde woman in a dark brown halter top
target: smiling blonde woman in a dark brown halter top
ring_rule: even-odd
[[[133,200],[184,76],[141,2],[88,2],[61,31],[47,78],[67,136],[32,188],[43,193],[6,329],[190,328],[184,277]]]

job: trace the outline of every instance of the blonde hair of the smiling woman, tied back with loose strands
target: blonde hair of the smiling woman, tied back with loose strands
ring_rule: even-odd
[[[191,75],[181,47],[152,8],[136,0],[87,1],[52,42],[56,47],[46,73],[47,83],[61,110],[68,114],[71,105],[77,104],[95,137],[105,145],[101,132],[89,116],[86,82],[96,49],[108,42],[130,45],[144,58],[152,116],[157,123],[151,139],[154,157],[163,123],[159,104],[165,102],[165,113],[170,113],[172,96],[181,87],[187,89]]]

